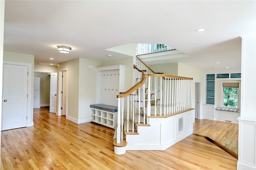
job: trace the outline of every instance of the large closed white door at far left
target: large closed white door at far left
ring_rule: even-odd
[[[4,64],[2,130],[27,126],[28,66]]]

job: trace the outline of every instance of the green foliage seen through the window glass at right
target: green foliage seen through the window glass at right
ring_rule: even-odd
[[[224,88],[224,106],[238,107],[238,88]]]

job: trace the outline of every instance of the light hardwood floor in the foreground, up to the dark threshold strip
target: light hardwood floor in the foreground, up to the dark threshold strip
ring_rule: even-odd
[[[34,109],[34,126],[1,132],[1,170],[222,170],[237,159],[203,137],[190,135],[164,151],[114,154],[114,130],[94,123],[77,125]]]

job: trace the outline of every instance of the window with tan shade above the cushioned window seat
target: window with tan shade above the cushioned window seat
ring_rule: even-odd
[[[222,106],[240,108],[239,82],[222,82]]]

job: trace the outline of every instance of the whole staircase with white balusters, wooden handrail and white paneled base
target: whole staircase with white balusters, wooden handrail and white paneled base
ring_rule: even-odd
[[[138,81],[118,98],[114,152],[165,150],[193,131],[192,78],[156,73],[138,57]],[[147,73],[147,74],[146,74]]]

